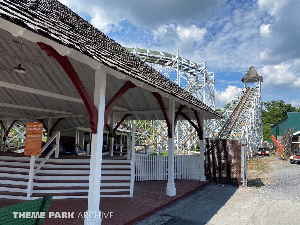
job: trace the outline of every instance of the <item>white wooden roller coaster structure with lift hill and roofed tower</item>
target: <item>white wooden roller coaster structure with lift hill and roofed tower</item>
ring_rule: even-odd
[[[180,57],[179,49],[173,54],[166,52],[152,51],[148,49],[137,48],[137,43],[133,48],[126,48],[132,52],[141,61],[149,64],[151,67],[157,69],[165,77],[172,80],[181,88],[189,92],[191,95],[202,101],[212,109],[214,105],[214,72],[209,72],[206,69],[206,62],[195,63]],[[253,67],[250,67],[250,69]],[[245,90],[249,87],[249,83],[256,83],[253,88],[247,103],[240,114],[233,131],[231,132],[230,139],[241,139],[246,137],[248,150],[257,151],[258,145],[262,142],[262,117],[261,117],[261,93],[260,84],[263,81],[256,71],[248,70],[245,77],[242,79],[244,83],[243,90],[235,97],[232,104],[223,114],[223,120],[206,120],[206,128],[204,129],[207,138],[217,138],[222,131],[226,121],[231,117],[232,112],[236,108],[244,94]],[[249,71],[251,77],[249,77]],[[252,73],[253,72],[253,73]],[[254,76],[254,75],[255,76]],[[247,78],[248,79],[245,79]],[[139,137],[143,139],[145,144],[164,148],[167,143],[167,128],[163,120],[158,121],[137,121],[137,127],[143,128],[145,131],[153,133],[153,137]],[[159,131],[159,132],[158,132]],[[176,127],[176,147],[178,150],[188,152],[188,154],[196,151],[196,146],[200,145],[199,139],[196,136],[195,129],[185,120],[179,120]],[[158,144],[157,143],[161,143]],[[194,151],[192,151],[192,148]],[[252,151],[248,151],[252,155]],[[183,153],[183,152],[182,152]]]

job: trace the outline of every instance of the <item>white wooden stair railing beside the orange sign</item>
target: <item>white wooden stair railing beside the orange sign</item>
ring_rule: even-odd
[[[46,143],[46,145],[41,149],[41,154],[45,151],[45,149],[49,146],[50,143],[53,142],[55,139],[55,146],[51,149],[51,151],[46,155],[46,157],[41,161],[41,163],[35,168],[35,161],[39,157],[38,155],[32,155],[30,156],[30,166],[29,166],[29,179],[27,184],[27,196],[26,200],[30,200],[30,196],[32,195],[32,185],[33,185],[33,177],[38,172],[38,170],[45,164],[47,159],[52,155],[52,153],[55,151],[55,158],[58,158],[58,151],[59,151],[59,137],[60,132],[57,131]]]

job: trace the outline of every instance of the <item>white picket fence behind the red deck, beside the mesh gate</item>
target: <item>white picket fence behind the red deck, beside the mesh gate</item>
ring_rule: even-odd
[[[175,155],[175,179],[199,179],[199,155]],[[167,155],[136,155],[135,181],[159,181],[168,179]]]

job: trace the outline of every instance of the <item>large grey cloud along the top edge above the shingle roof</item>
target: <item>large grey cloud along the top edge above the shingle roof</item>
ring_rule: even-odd
[[[95,6],[101,7],[110,16],[120,15],[133,24],[155,30],[162,24],[189,24],[206,18],[212,9],[223,5],[225,0],[59,0],[78,14],[90,14]],[[192,6],[192,10],[191,7]],[[200,9],[200,10],[199,10]]]

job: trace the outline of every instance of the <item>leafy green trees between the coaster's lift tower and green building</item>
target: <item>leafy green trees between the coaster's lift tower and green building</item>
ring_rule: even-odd
[[[287,113],[296,112],[297,108],[286,104],[283,100],[262,102],[262,124],[275,124],[287,117]],[[300,111],[300,107],[298,107]]]

